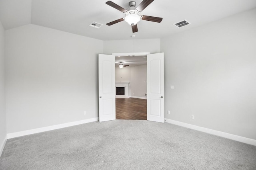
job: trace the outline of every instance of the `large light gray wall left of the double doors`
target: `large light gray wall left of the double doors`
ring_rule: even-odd
[[[103,41],[33,24],[5,36],[7,133],[98,117]]]

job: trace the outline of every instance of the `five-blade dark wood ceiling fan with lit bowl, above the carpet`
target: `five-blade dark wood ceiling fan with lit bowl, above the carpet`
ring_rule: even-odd
[[[107,23],[107,25],[110,26],[121,21],[126,21],[127,23],[132,25],[132,32],[135,33],[135,32],[138,32],[137,23],[140,20],[153,21],[153,22],[160,23],[163,18],[152,17],[152,16],[140,16],[140,12],[142,12],[153,1],[154,0],[143,0],[137,7],[136,7],[136,2],[131,1],[129,2],[130,7],[127,9],[124,9],[121,6],[118,6],[112,1],[106,2],[107,5],[112,6],[113,8],[116,8],[117,10],[123,12],[126,16],[124,18],[120,18],[118,20]]]

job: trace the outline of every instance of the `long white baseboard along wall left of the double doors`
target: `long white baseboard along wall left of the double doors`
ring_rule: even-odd
[[[14,138],[14,137],[20,137],[20,136],[24,136],[24,135],[31,135],[31,134],[34,134],[34,133],[51,131],[51,130],[60,129],[60,128],[64,128],[64,127],[70,127],[70,126],[74,126],[74,125],[80,125],[80,124],[84,124],[84,123],[90,123],[90,122],[98,121],[98,120],[99,120],[99,117],[95,117],[95,118],[92,118],[92,119],[84,119],[84,120],[80,120],[80,121],[63,123],[63,124],[60,124],[60,125],[41,127],[41,128],[37,128],[37,129],[31,129],[31,130],[20,131],[20,132],[15,132],[15,133],[8,133],[7,134],[7,139],[11,139],[11,138]]]

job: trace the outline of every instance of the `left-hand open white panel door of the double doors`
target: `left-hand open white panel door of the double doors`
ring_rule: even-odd
[[[115,56],[99,54],[99,121],[115,119]]]

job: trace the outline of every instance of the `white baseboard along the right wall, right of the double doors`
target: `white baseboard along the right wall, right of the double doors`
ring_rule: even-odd
[[[197,130],[197,131],[209,133],[209,134],[212,134],[212,135],[216,135],[216,136],[232,139],[234,141],[239,141],[239,142],[242,142],[242,143],[247,143],[247,144],[256,146],[256,140],[254,140],[254,139],[241,137],[241,136],[238,136],[238,135],[232,135],[230,133],[225,133],[225,132],[216,131],[216,130],[212,130],[212,129],[208,129],[208,128],[204,128],[204,127],[200,127],[200,126],[196,126],[196,125],[191,125],[191,124],[188,124],[188,123],[183,123],[183,122],[175,121],[175,120],[172,120],[172,119],[164,118],[164,121],[167,122],[167,123],[172,123],[174,125],[187,127],[189,129],[194,129],[194,130]]]

